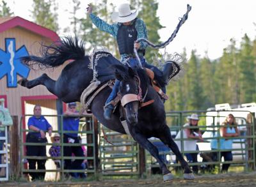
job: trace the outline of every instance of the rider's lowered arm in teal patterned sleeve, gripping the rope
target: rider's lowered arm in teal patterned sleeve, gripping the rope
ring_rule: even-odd
[[[139,38],[145,38],[148,39],[148,32],[147,27],[145,26],[145,23],[141,19],[136,19],[135,28],[137,31],[137,39]],[[148,46],[147,43],[140,41],[140,49],[146,49]]]

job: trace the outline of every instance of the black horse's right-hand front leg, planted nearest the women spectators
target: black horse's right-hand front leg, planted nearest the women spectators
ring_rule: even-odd
[[[170,149],[172,149],[173,153],[177,156],[177,159],[180,161],[181,167],[184,168],[184,178],[185,179],[195,179],[191,169],[189,168],[188,163],[184,160],[182,154],[179,151],[179,147],[173,141],[172,135],[170,133],[170,129],[166,126],[166,129],[161,130],[161,135],[159,135],[160,140],[168,145]]]

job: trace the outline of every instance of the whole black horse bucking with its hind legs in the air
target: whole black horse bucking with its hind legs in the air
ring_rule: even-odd
[[[44,46],[42,57],[27,56],[22,61],[29,65],[54,68],[73,59],[61,71],[58,80],[52,80],[46,74],[34,80],[19,80],[19,84],[31,89],[44,85],[62,101],[69,103],[81,101],[81,94],[93,80],[97,79],[105,84],[111,79],[120,80],[119,95],[124,108],[124,118],[127,129],[120,121],[121,110],[115,110],[110,120],[104,119],[104,103],[111,93],[111,87],[106,86],[100,91],[90,104],[90,109],[95,117],[107,128],[123,134],[129,134],[142,147],[156,158],[163,172],[164,181],[173,179],[173,176],[159,157],[157,147],[148,138],[159,138],[173,153],[184,168],[184,178],[194,179],[193,173],[180,154],[179,148],[173,141],[170,129],[166,125],[164,104],[161,97],[152,87],[151,80],[141,68],[130,68],[120,63],[106,50],[95,51],[92,56],[85,56],[84,43],[77,38],[63,38],[58,43]],[[175,64],[175,62],[172,62]],[[100,68],[97,70],[97,68]],[[100,75],[99,75],[100,74]],[[152,101],[149,105],[141,107],[141,103]]]

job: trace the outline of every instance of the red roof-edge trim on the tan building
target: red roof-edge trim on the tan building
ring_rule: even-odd
[[[29,31],[44,36],[51,39],[52,41],[59,40],[59,36],[54,31],[47,29],[45,27],[39,26],[29,20],[22,19],[19,16],[16,17],[2,17],[0,18],[0,33],[12,29],[13,27],[22,27],[28,29]]]

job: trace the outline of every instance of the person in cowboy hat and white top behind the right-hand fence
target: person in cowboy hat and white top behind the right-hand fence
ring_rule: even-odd
[[[198,146],[196,142],[204,141],[202,138],[202,133],[199,128],[195,128],[198,126],[198,121],[200,120],[197,114],[191,114],[191,116],[187,117],[188,123],[184,124],[183,130],[180,130],[175,139],[184,138],[183,140],[183,150],[181,149],[180,140],[175,140],[175,143],[179,147],[180,151],[196,151],[198,150]],[[181,135],[182,132],[182,135]],[[189,162],[197,163],[197,154],[198,153],[185,153],[185,156]],[[198,166],[193,165],[192,170],[195,174],[198,173]]]

